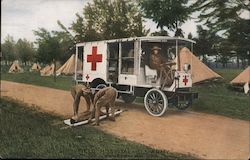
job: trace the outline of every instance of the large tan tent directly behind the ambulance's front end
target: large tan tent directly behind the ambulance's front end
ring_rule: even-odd
[[[221,79],[222,77],[212,69],[202,63],[188,48],[184,47],[179,53],[179,67],[183,70],[185,63],[191,65],[193,83],[204,82],[207,80]]]

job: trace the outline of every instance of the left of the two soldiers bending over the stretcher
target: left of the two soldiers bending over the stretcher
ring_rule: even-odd
[[[71,123],[75,123],[79,120],[78,109],[79,109],[79,103],[80,103],[81,97],[83,97],[87,103],[87,106],[86,106],[87,110],[84,112],[87,115],[88,113],[90,113],[90,107],[93,104],[92,102],[93,95],[89,87],[85,85],[81,85],[81,84],[71,87],[71,95],[74,99],[74,103],[73,103],[74,116],[70,119],[70,121]]]

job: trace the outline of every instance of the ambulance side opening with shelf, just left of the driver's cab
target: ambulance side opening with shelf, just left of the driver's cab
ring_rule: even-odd
[[[134,42],[121,43],[121,73],[134,74]]]

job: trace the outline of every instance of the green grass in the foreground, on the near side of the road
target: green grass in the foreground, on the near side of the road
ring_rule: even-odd
[[[0,158],[193,159],[115,138],[92,126],[65,128],[62,119],[2,97]]]

